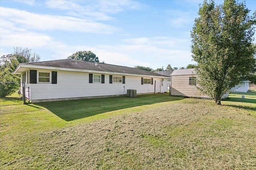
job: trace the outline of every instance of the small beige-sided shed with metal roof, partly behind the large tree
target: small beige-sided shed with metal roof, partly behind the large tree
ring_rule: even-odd
[[[171,74],[171,96],[210,98],[196,88],[197,77],[194,68],[174,70]],[[227,97],[228,93],[222,96],[222,98]]]

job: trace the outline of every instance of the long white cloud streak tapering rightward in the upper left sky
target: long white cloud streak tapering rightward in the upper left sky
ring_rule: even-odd
[[[8,29],[16,29],[17,27],[31,30],[63,30],[63,31],[79,31],[91,33],[113,33],[116,27],[98,22],[90,22],[79,18],[68,16],[53,16],[45,14],[34,14],[23,10],[0,7],[1,10],[1,27],[5,27],[8,23],[12,27]],[[14,28],[14,25],[16,26]]]

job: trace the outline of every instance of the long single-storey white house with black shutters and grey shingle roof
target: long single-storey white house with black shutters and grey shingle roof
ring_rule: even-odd
[[[21,74],[24,94],[33,103],[119,96],[127,89],[137,94],[167,92],[167,76],[73,59],[20,63],[14,74]]]

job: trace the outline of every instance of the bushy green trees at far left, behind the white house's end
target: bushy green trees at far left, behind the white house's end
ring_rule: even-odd
[[[13,74],[20,63],[36,62],[40,56],[31,53],[31,49],[14,48],[13,54],[3,55],[0,58],[0,97],[9,96],[19,88],[20,75]]]

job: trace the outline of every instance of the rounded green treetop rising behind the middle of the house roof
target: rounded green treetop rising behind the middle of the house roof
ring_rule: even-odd
[[[82,61],[100,62],[99,58],[92,51],[78,51],[68,57],[68,59],[76,59]]]

